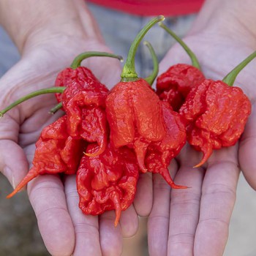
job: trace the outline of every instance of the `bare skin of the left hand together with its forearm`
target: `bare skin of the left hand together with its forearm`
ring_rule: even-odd
[[[19,15],[12,11],[12,4],[16,4],[24,12],[29,12],[30,22],[19,19]],[[97,26],[89,26],[95,22],[90,15],[86,15],[86,5],[83,1],[65,1],[64,4],[64,1],[49,0],[39,5],[42,5],[37,8],[40,12],[35,13],[37,10],[32,8],[33,1],[26,1],[26,4],[22,1],[0,1],[1,11],[6,10],[1,13],[0,21],[21,54],[20,61],[1,78],[1,109],[35,89],[53,86],[58,72],[69,67],[75,56],[81,52],[110,52]],[[80,13],[82,9],[83,12]],[[6,17],[8,10],[9,16]],[[44,18],[37,20],[41,15]],[[55,18],[55,23],[48,23],[50,17]],[[10,18],[12,23],[9,23]],[[19,24],[23,21],[23,24]],[[36,25],[29,28],[31,25],[25,21]],[[23,33],[17,29],[18,26],[24,29]],[[26,38],[23,38],[22,34],[26,35]],[[120,80],[121,65],[116,59],[91,58],[83,61],[83,65],[91,69],[94,75],[109,87]],[[0,170],[12,187],[15,187],[29,170],[34,155],[34,143],[42,128],[63,114],[59,112],[54,116],[50,115],[48,112],[54,105],[54,95],[48,94],[24,102],[1,118]],[[15,161],[12,157],[14,155]],[[138,230],[138,214],[146,216],[151,210],[152,181],[146,175],[140,178],[139,184],[142,184],[142,189],[138,189],[136,211],[132,205],[121,214],[118,227],[114,227],[114,211],[102,214],[99,219],[81,214],[75,176],[64,178],[64,182],[58,176],[40,176],[31,181],[27,186],[29,200],[50,255],[120,255],[122,237],[133,236]],[[144,186],[149,188],[146,196]],[[141,200],[143,202],[140,202]]]

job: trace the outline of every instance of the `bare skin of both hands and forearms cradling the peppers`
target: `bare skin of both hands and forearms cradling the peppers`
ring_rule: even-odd
[[[57,73],[68,67],[78,53],[110,51],[82,0],[42,2],[34,8],[33,0],[0,0],[0,23],[21,53],[18,64],[0,80],[0,108],[31,91],[53,86]],[[253,0],[232,3],[230,6],[229,0],[206,1],[185,39],[208,78],[222,79],[255,50],[255,4]],[[20,12],[15,12],[14,5]],[[184,50],[175,45],[161,61],[160,73],[179,62],[190,63]],[[92,58],[83,64],[109,87],[120,80],[121,67],[115,59]],[[253,105],[254,67],[252,61],[236,80]],[[13,187],[29,170],[34,143],[42,127],[61,115],[48,114],[55,104],[53,95],[40,96],[1,119],[0,170]],[[149,214],[150,255],[222,255],[240,169],[256,189],[255,122],[253,107],[241,141],[214,151],[203,167],[193,168],[200,160],[199,153],[189,146],[182,149],[170,170],[176,184],[189,189],[171,191],[160,176],[141,176],[135,202],[121,214],[116,228],[113,211],[99,219],[81,214],[74,176],[64,178],[64,182],[58,176],[34,179],[27,191],[50,255],[121,255],[122,236],[136,233],[138,214]]]

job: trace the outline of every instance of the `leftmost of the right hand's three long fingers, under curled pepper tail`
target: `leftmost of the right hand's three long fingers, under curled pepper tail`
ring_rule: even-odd
[[[175,161],[170,165],[173,177],[177,170]],[[159,176],[153,175],[153,207],[148,217],[149,255],[167,255],[167,237],[169,230],[170,186]]]

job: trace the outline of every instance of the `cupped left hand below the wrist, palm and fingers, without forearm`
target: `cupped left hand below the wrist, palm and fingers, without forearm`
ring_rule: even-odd
[[[89,50],[110,52],[97,40],[69,38],[64,35],[26,45],[20,61],[0,80],[0,109],[31,91],[54,86],[58,72],[69,67],[72,59],[79,53]],[[120,80],[121,66],[116,59],[92,57],[82,64],[91,69],[109,88]],[[54,95],[45,94],[23,102],[1,118],[0,170],[12,187],[16,187],[26,176],[42,128],[63,115],[61,111],[49,114],[54,105]],[[61,179],[59,176],[44,175],[29,182],[29,200],[50,254],[121,255],[122,237],[133,236],[138,229],[138,214],[148,214],[151,209],[150,203],[144,203],[145,182],[150,184],[151,180],[145,176],[139,181],[141,185],[135,200],[135,205],[137,202],[138,206],[136,211],[132,205],[122,213],[118,227],[114,227],[113,211],[102,214],[99,218],[82,214],[78,208],[75,176]]]

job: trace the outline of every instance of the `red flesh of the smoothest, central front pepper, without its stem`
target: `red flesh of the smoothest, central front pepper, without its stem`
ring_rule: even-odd
[[[165,138],[165,121],[159,97],[142,78],[120,82],[108,94],[106,113],[110,141],[116,148],[135,149],[140,170],[146,172],[144,158],[151,141]]]

